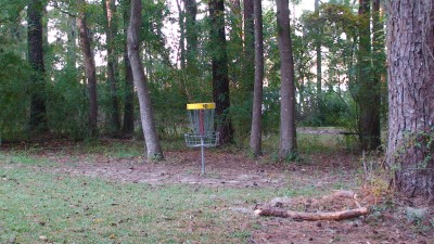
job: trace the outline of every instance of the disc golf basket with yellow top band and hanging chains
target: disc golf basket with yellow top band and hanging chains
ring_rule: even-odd
[[[191,133],[186,133],[187,146],[201,147],[202,174],[205,174],[205,147],[218,145],[218,132],[214,131],[215,103],[187,104]]]

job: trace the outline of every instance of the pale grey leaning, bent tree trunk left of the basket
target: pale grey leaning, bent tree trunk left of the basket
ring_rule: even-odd
[[[141,0],[131,0],[131,15],[128,26],[128,56],[132,67],[132,76],[137,88],[140,105],[140,118],[146,143],[148,159],[163,159],[163,151],[155,129],[151,95],[148,89],[146,76],[140,59],[139,33],[141,28]]]

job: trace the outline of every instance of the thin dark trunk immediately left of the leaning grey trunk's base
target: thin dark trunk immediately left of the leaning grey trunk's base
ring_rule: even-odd
[[[125,37],[127,37],[127,31],[128,31],[130,2],[131,2],[130,0],[123,1]],[[126,136],[131,136],[135,132],[135,84],[132,78],[132,69],[128,57],[127,41],[125,41],[125,48],[124,48],[124,66],[125,66],[125,93],[124,93],[123,133]]]

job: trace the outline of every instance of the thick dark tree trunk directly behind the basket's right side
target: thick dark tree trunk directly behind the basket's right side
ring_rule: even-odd
[[[210,43],[213,69],[213,99],[216,103],[217,131],[220,143],[232,141],[232,126],[229,117],[228,53],[225,34],[225,1],[209,1]]]

